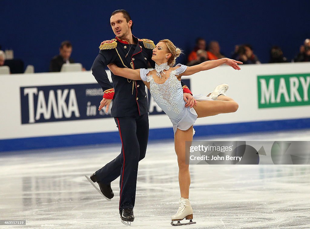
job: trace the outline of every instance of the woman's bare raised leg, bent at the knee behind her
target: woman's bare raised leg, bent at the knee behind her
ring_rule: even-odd
[[[238,103],[232,98],[219,95],[217,100],[197,101],[197,106],[194,106],[198,118],[208,117],[222,113],[232,113],[238,110]]]

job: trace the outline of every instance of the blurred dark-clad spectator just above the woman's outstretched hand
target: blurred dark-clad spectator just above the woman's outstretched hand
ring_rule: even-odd
[[[252,46],[249,44],[236,46],[232,58],[243,62],[243,64],[260,64],[257,56],[253,53]]]

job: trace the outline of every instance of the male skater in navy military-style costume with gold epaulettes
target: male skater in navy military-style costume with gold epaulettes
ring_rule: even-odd
[[[134,221],[138,164],[145,156],[148,143],[148,101],[143,81],[129,80],[111,72],[113,88],[105,67],[114,63],[121,68],[147,68],[148,62],[154,67],[155,62],[151,58],[155,45],[151,40],[138,39],[132,35],[132,20],[125,10],[114,11],[110,24],[116,37],[100,46],[92,74],[104,91],[99,110],[106,106],[107,112],[113,99],[111,116],[118,127],[122,150],[113,161],[97,170],[90,178],[99,184],[103,195],[111,199],[114,196],[111,182],[121,176],[119,211],[122,222],[130,224]],[[182,85],[186,94],[184,98],[188,100],[186,105],[193,105],[190,90],[183,82]]]

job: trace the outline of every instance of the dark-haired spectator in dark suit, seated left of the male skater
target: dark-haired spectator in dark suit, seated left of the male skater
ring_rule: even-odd
[[[59,48],[59,55],[54,56],[50,63],[50,72],[60,72],[61,66],[65,63],[74,63],[70,58],[72,53],[72,44],[69,41],[61,43]]]

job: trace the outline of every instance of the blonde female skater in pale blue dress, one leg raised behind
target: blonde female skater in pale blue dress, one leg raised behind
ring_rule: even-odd
[[[218,60],[205,61],[201,64],[187,67],[177,64],[175,59],[180,55],[181,50],[168,39],[158,42],[153,49],[152,59],[156,62],[155,69],[130,69],[118,68],[115,64],[109,64],[109,69],[118,76],[132,80],[143,80],[150,90],[152,97],[162,110],[169,116],[174,130],[175,152],[179,164],[179,186],[181,198],[179,209],[176,214],[171,216],[171,225],[192,224],[193,209],[189,203],[190,174],[189,165],[185,164],[185,142],[193,140],[193,124],[197,117],[208,117],[220,113],[236,112],[238,103],[227,97],[225,92],[228,90],[227,84],[220,84],[215,87],[209,97],[197,98],[197,105],[193,108],[185,108],[183,100],[183,90],[181,77],[194,73],[209,70],[222,64],[227,64],[236,70],[240,70],[240,61],[222,58]],[[189,223],[180,223],[182,219],[189,219]],[[173,223],[178,221],[177,223]]]

